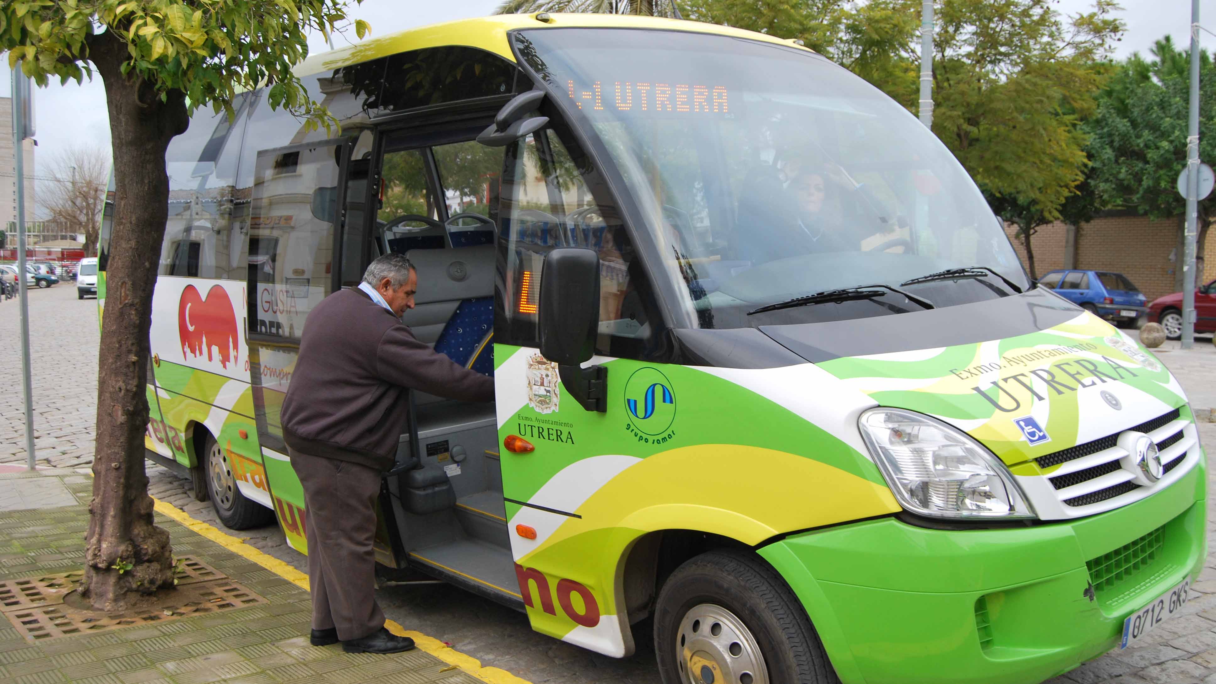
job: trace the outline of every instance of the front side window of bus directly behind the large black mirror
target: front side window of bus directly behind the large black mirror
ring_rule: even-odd
[[[630,265],[635,253],[615,207],[592,197],[590,159],[574,157],[550,130],[511,148],[502,182],[500,243],[507,255],[503,323],[511,344],[537,344],[541,264],[556,247],[599,253],[597,352],[635,356],[646,333],[642,289]],[[500,248],[501,249],[501,248]]]

